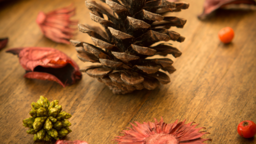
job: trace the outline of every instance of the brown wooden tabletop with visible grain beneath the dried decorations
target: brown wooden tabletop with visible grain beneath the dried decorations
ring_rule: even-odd
[[[85,140],[89,144],[113,143],[129,122],[153,121],[153,117],[167,123],[175,119],[195,121],[206,127],[205,143],[256,143],[237,134],[242,120],[256,122],[256,11],[219,10],[215,16],[200,21],[203,0],[184,0],[187,10],[169,15],[187,19],[181,33],[184,42],[172,42],[182,55],[170,57],[177,69],[171,82],[155,90],[136,90],[114,95],[107,86],[83,73],[76,84],[63,88],[56,82],[23,78],[25,71],[18,58],[5,50],[11,47],[54,47],[73,58],[80,67],[71,45],[58,44],[45,38],[35,23],[37,13],[69,5],[70,0],[17,0],[0,4],[0,37],[9,37],[8,45],[0,50],[0,143],[34,142],[26,134],[22,119],[29,117],[30,103],[39,95],[49,100],[59,99],[63,110],[72,114],[69,133],[65,139]],[[74,19],[92,23],[84,0],[73,0],[77,7]],[[96,22],[93,22],[96,24]],[[217,32],[225,26],[235,31],[230,44],[222,44]],[[75,39],[92,42],[78,32]],[[54,143],[51,142],[51,143]]]

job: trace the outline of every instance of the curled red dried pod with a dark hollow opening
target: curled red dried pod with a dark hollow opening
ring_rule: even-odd
[[[74,60],[54,48],[12,48],[6,52],[18,55],[19,63],[26,70],[26,78],[52,80],[63,87],[81,79],[81,72]]]

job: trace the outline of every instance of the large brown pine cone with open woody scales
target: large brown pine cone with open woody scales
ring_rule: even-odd
[[[161,14],[186,9],[189,4],[168,0],[101,1],[112,10],[93,0],[86,0],[85,4],[92,11],[90,18],[102,24],[105,30],[78,24],[79,31],[91,36],[94,45],[70,40],[76,46],[80,60],[98,62],[101,65],[80,70],[104,82],[113,93],[118,94],[142,88],[154,89],[160,83],[169,83],[169,76],[158,70],[174,72],[175,68],[171,65],[173,61],[169,58],[147,57],[155,54],[172,54],[174,57],[181,55],[169,43],[152,44],[158,41],[184,41],[179,33],[167,29],[171,26],[182,28],[186,20]],[[104,19],[103,14],[108,20]]]

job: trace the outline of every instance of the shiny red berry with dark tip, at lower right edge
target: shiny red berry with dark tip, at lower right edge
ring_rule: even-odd
[[[256,134],[256,124],[250,120],[244,120],[238,124],[237,132],[244,138],[253,137]]]

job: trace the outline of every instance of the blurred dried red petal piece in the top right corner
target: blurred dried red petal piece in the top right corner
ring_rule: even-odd
[[[205,0],[203,4],[203,12],[198,15],[199,19],[204,19],[218,8],[223,8],[229,4],[252,4],[256,5],[255,0]]]

